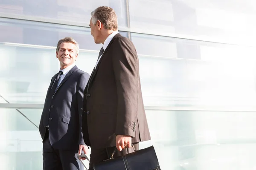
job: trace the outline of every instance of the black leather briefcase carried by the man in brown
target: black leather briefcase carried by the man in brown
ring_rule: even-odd
[[[111,159],[93,164],[93,170],[161,170],[153,146],[113,158],[115,152]]]

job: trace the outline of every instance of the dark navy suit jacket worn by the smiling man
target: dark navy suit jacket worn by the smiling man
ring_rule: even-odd
[[[48,94],[56,77],[57,74],[52,77],[47,91],[39,131],[44,141],[49,125],[52,147],[62,150],[78,149],[79,144],[84,144],[81,130],[83,92],[90,75],[75,65],[51,99]]]

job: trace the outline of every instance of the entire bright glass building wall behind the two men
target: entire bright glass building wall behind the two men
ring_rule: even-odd
[[[137,49],[152,138],[140,148],[154,145],[163,170],[256,169],[254,2],[70,2],[0,2],[0,169],[42,170],[36,126],[59,69],[56,44],[78,41],[76,64],[91,74],[101,48],[88,27],[97,6],[116,10],[119,32]]]

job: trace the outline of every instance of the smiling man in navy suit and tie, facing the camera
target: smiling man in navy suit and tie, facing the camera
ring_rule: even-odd
[[[39,125],[44,170],[79,170],[75,154],[88,153],[81,128],[83,92],[90,75],[77,68],[78,53],[73,38],[59,40],[56,57],[61,68],[51,79]]]

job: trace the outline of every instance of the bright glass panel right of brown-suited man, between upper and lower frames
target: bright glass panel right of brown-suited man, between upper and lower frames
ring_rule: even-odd
[[[255,47],[131,34],[146,106],[256,106]]]

